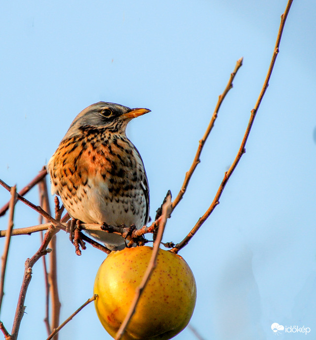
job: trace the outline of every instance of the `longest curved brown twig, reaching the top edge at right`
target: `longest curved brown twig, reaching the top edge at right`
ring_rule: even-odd
[[[288,14],[288,11],[291,7],[292,2],[293,2],[293,0],[288,1],[286,8],[285,8],[285,11],[284,11],[284,14],[282,14],[282,16],[281,16],[281,24],[280,24],[280,28],[279,28],[278,37],[277,37],[276,45],[275,45],[275,48],[274,48],[272,60],[271,60],[271,63],[270,63],[269,69],[268,69],[268,73],[267,73],[266,79],[264,81],[263,87],[261,89],[261,92],[259,94],[258,100],[257,100],[253,110],[251,111],[251,116],[250,116],[250,119],[249,119],[249,122],[248,122],[248,126],[247,126],[247,129],[246,129],[245,135],[243,137],[243,141],[242,141],[240,148],[238,150],[237,156],[234,159],[234,161],[233,161],[232,165],[230,166],[230,168],[228,169],[228,171],[225,172],[224,178],[221,181],[221,185],[220,185],[220,187],[217,191],[217,194],[216,194],[212,204],[207,209],[207,211],[204,213],[204,215],[198,219],[197,223],[191,229],[189,234],[180,243],[178,243],[173,249],[171,249],[171,252],[173,252],[173,253],[178,253],[180,249],[182,249],[183,247],[185,247],[189,243],[190,239],[193,237],[193,235],[196,233],[196,231],[202,226],[202,224],[207,220],[207,218],[213,212],[215,207],[220,203],[219,199],[221,198],[221,194],[222,194],[222,192],[225,188],[225,185],[226,185],[228,179],[230,178],[231,174],[233,173],[233,171],[237,167],[237,164],[239,163],[242,155],[246,152],[245,146],[246,146],[251,128],[253,126],[255,114],[258,111],[258,108],[259,108],[260,103],[262,101],[263,95],[264,95],[264,93],[265,93],[265,91],[268,87],[268,84],[269,84],[269,80],[270,80],[270,77],[271,77],[271,74],[272,74],[273,66],[275,64],[276,57],[279,53],[279,46],[280,46],[280,41],[281,41],[281,36],[282,36],[285,20],[286,20],[286,17],[287,17],[287,14]]]

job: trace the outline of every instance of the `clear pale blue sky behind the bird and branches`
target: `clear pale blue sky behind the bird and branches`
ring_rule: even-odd
[[[127,134],[145,163],[154,217],[167,190],[174,197],[180,190],[218,95],[244,57],[167,224],[164,240],[179,242],[237,153],[285,6],[285,0],[2,1],[0,178],[26,185],[92,103],[146,107],[152,112],[130,123]],[[197,283],[191,324],[206,340],[275,339],[275,322],[316,332],[315,18],[315,1],[294,0],[247,152],[220,205],[180,252]],[[37,189],[27,198],[37,204]],[[0,205],[8,199],[0,188]],[[37,222],[35,212],[17,204],[15,227]],[[25,259],[38,247],[38,234],[12,238],[0,315],[9,330]],[[76,256],[63,232],[58,251],[63,321],[92,296],[104,255],[88,246]],[[39,261],[20,340],[46,339],[42,274]],[[278,339],[304,337],[282,333]],[[110,337],[91,304],[63,329],[60,340],[66,339]],[[186,329],[175,339],[194,336]]]

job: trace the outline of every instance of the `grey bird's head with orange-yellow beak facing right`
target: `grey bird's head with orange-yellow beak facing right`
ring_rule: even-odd
[[[86,129],[107,129],[113,133],[125,134],[127,123],[148,109],[130,109],[126,106],[98,102],[82,110],[71,123],[63,140],[81,134]]]

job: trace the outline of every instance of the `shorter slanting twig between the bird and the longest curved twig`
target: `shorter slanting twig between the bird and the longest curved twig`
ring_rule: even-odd
[[[187,187],[188,187],[188,184],[189,184],[189,181],[190,181],[190,178],[193,174],[193,171],[195,170],[195,168],[197,167],[197,165],[200,163],[200,155],[201,155],[201,152],[202,152],[202,149],[203,149],[203,146],[210,134],[210,132],[212,131],[213,129],[213,126],[214,126],[214,123],[215,123],[215,120],[217,118],[217,115],[218,115],[218,112],[220,110],[220,107],[221,107],[221,103],[223,102],[226,94],[228,93],[228,91],[233,87],[233,80],[236,76],[236,73],[237,71],[239,70],[239,68],[242,66],[243,64],[243,58],[241,57],[240,59],[237,60],[237,63],[236,63],[236,66],[235,66],[235,69],[234,71],[230,74],[230,78],[229,78],[229,81],[228,81],[228,84],[226,85],[223,93],[219,96],[219,100],[216,104],[216,107],[215,107],[215,110],[214,110],[214,113],[212,115],[212,118],[211,118],[211,121],[204,133],[204,136],[202,137],[202,139],[199,141],[199,145],[198,145],[198,148],[197,148],[197,151],[196,151],[196,154],[195,154],[195,157],[194,157],[194,160],[193,160],[193,163],[190,167],[190,170],[186,173],[186,177],[184,179],[184,182],[182,184],[182,188],[179,192],[179,194],[177,195],[177,197],[173,200],[172,202],[172,210],[174,210],[174,208],[178,205],[178,203],[180,202],[180,200],[183,198],[183,195],[185,194],[186,190],[187,190]]]

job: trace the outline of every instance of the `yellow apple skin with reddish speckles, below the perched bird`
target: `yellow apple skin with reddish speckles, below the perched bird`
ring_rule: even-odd
[[[152,247],[112,252],[101,264],[94,293],[96,313],[114,338],[129,310],[150,261]],[[187,262],[159,249],[157,267],[147,283],[124,340],[168,340],[189,323],[196,301],[196,284]]]

